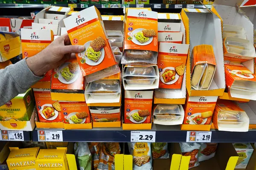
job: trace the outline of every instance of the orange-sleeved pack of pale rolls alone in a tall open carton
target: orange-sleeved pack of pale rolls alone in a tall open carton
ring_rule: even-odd
[[[208,90],[216,70],[212,45],[197,45],[192,51],[191,85],[196,90]]]

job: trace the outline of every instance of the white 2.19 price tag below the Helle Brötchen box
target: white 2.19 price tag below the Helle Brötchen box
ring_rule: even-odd
[[[187,131],[186,142],[211,142],[212,132]]]

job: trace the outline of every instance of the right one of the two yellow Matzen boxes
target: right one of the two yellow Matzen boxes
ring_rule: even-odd
[[[36,158],[36,170],[68,170],[67,148],[41,149]]]

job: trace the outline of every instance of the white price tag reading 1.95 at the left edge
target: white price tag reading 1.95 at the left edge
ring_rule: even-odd
[[[1,138],[3,141],[24,141],[23,131],[20,130],[1,130]]]

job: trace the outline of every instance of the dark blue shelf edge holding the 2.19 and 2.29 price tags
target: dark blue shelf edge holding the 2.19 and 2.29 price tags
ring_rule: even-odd
[[[36,128],[32,132],[33,141],[38,141],[38,130],[61,129]],[[148,131],[156,131],[156,142],[186,142],[187,132],[180,130],[179,125],[153,125],[152,129]],[[131,142],[131,130],[122,130],[122,127],[93,128],[90,130],[62,130],[62,135],[64,142]],[[248,132],[212,130],[211,142],[256,142],[256,130],[249,130]]]

